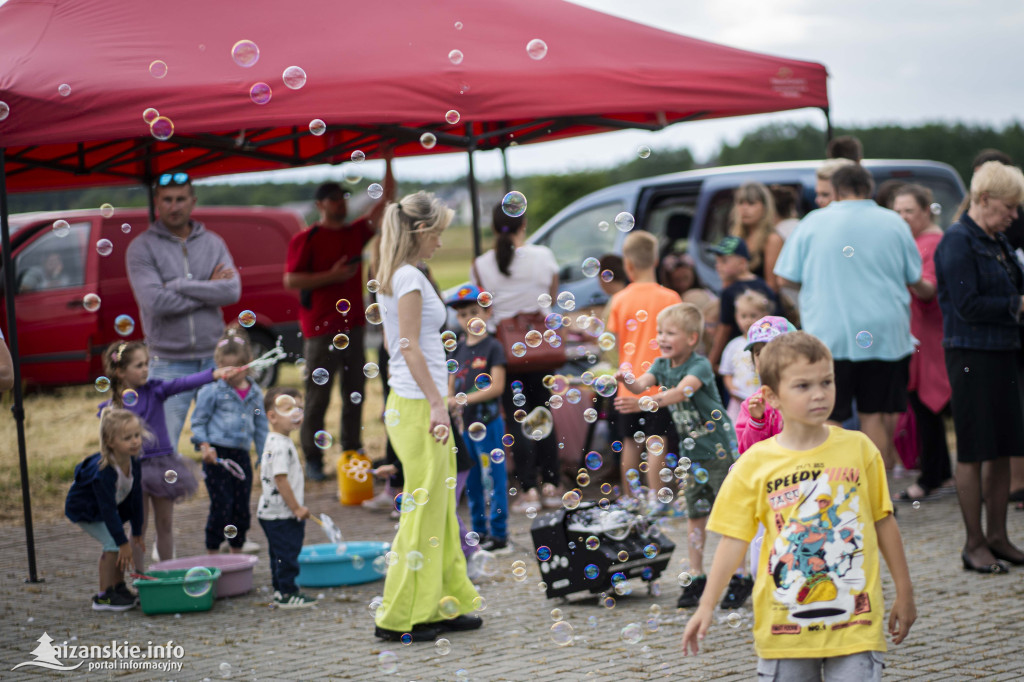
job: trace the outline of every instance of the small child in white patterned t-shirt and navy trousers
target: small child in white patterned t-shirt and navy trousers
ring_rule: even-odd
[[[304,608],[316,603],[295,585],[310,514],[305,507],[302,463],[290,435],[302,424],[302,395],[294,388],[271,388],[263,398],[263,411],[270,433],[260,458],[263,492],[256,505],[256,518],[270,553],[272,603],[279,608]]]

